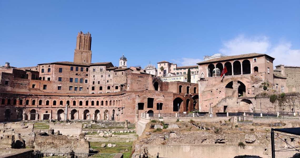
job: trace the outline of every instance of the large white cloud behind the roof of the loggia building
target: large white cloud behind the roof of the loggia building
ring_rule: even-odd
[[[273,46],[266,36],[238,35],[223,42],[223,47],[219,51],[225,55],[265,53],[275,58],[274,66],[278,64],[299,66],[300,49],[293,50],[291,46],[290,42],[281,42]]]

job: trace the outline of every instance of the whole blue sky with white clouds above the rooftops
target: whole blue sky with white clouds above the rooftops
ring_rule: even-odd
[[[0,65],[73,61],[78,32],[92,62],[195,65],[204,55],[267,53],[298,64],[300,1],[0,1]]]

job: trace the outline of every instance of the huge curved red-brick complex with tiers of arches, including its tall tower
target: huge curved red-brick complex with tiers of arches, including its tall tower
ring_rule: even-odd
[[[199,109],[197,84],[163,82],[139,66],[128,68],[124,54],[119,67],[91,63],[91,54],[91,34],[79,32],[73,62],[0,70],[0,121],[135,122],[140,113]]]

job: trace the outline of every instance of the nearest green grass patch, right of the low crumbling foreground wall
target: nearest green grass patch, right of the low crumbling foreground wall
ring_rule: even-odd
[[[106,144],[106,147],[101,147],[101,144]],[[116,144],[116,147],[107,147],[107,144]],[[90,147],[93,148],[94,151],[98,151],[98,153],[123,153],[124,158],[129,158],[131,155],[133,141],[123,142],[90,142]],[[127,152],[125,150],[128,149]]]

